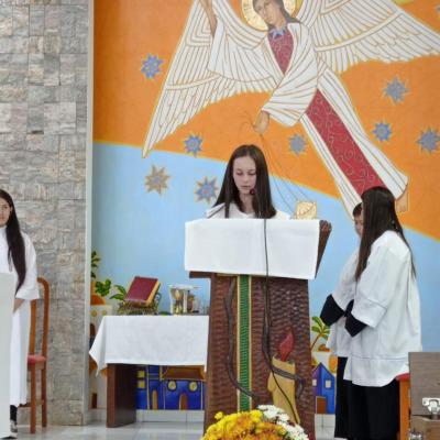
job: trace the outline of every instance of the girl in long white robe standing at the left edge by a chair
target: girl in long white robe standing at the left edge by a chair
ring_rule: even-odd
[[[10,418],[11,437],[16,438],[16,409],[26,403],[26,372],[32,299],[38,298],[35,250],[20,231],[12,197],[0,189],[0,272],[15,277],[12,318]]]

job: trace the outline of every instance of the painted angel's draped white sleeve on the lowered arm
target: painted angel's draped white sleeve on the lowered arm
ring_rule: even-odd
[[[279,123],[293,127],[309,107],[318,87],[318,63],[311,38],[305,26],[290,28],[294,36],[294,52],[289,68],[263,106]]]

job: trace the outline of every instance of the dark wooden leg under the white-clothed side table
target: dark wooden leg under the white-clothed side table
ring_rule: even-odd
[[[107,369],[107,427],[136,421],[138,365],[109,364]]]

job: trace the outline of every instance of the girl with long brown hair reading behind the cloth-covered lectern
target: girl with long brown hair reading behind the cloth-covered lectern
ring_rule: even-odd
[[[231,155],[220,195],[207,211],[213,219],[280,219],[286,212],[274,208],[266,160],[255,145],[241,145]]]

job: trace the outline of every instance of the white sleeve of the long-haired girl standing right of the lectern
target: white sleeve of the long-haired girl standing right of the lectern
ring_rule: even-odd
[[[388,246],[380,246],[369,257],[358,283],[352,315],[375,328],[385,315],[398,286],[405,264]]]

